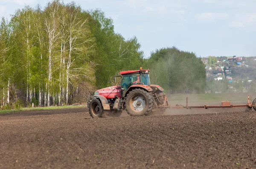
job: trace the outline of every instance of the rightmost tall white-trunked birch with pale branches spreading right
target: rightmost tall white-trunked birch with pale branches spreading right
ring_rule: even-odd
[[[89,69],[86,66],[72,67],[74,62],[79,62],[84,56],[83,53],[89,55],[93,52],[94,39],[91,37],[90,29],[87,25],[87,19],[83,20],[81,17],[81,8],[76,7],[75,4],[70,4],[68,7],[68,58],[66,69],[66,104],[68,104],[69,84],[72,84],[70,79],[77,76],[88,76]]]

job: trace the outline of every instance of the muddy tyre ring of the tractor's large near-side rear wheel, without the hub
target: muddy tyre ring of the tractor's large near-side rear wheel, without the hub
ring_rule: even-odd
[[[140,96],[145,100],[145,107],[143,110],[135,110],[132,102],[133,99],[137,96]],[[148,113],[151,113],[153,109],[153,98],[152,96],[143,89],[134,89],[131,90],[125,98],[125,110],[131,116],[142,116]]]

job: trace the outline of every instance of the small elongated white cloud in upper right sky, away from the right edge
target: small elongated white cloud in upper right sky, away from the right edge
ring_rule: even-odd
[[[212,12],[206,12],[197,14],[197,19],[201,21],[213,21],[213,20],[226,20],[228,19],[227,13],[212,13]]]

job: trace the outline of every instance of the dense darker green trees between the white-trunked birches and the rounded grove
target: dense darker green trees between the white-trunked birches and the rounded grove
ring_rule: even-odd
[[[91,59],[96,63],[96,85],[102,88],[110,85],[109,77],[116,71],[140,68],[143,52],[136,37],[125,40],[114,32],[113,20],[104,12],[96,9],[89,14],[90,30],[96,39],[96,55]]]

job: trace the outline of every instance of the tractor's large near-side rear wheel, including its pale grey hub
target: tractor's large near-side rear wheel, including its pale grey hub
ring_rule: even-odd
[[[125,110],[131,116],[148,114],[153,109],[152,96],[143,89],[131,90],[125,99]]]

